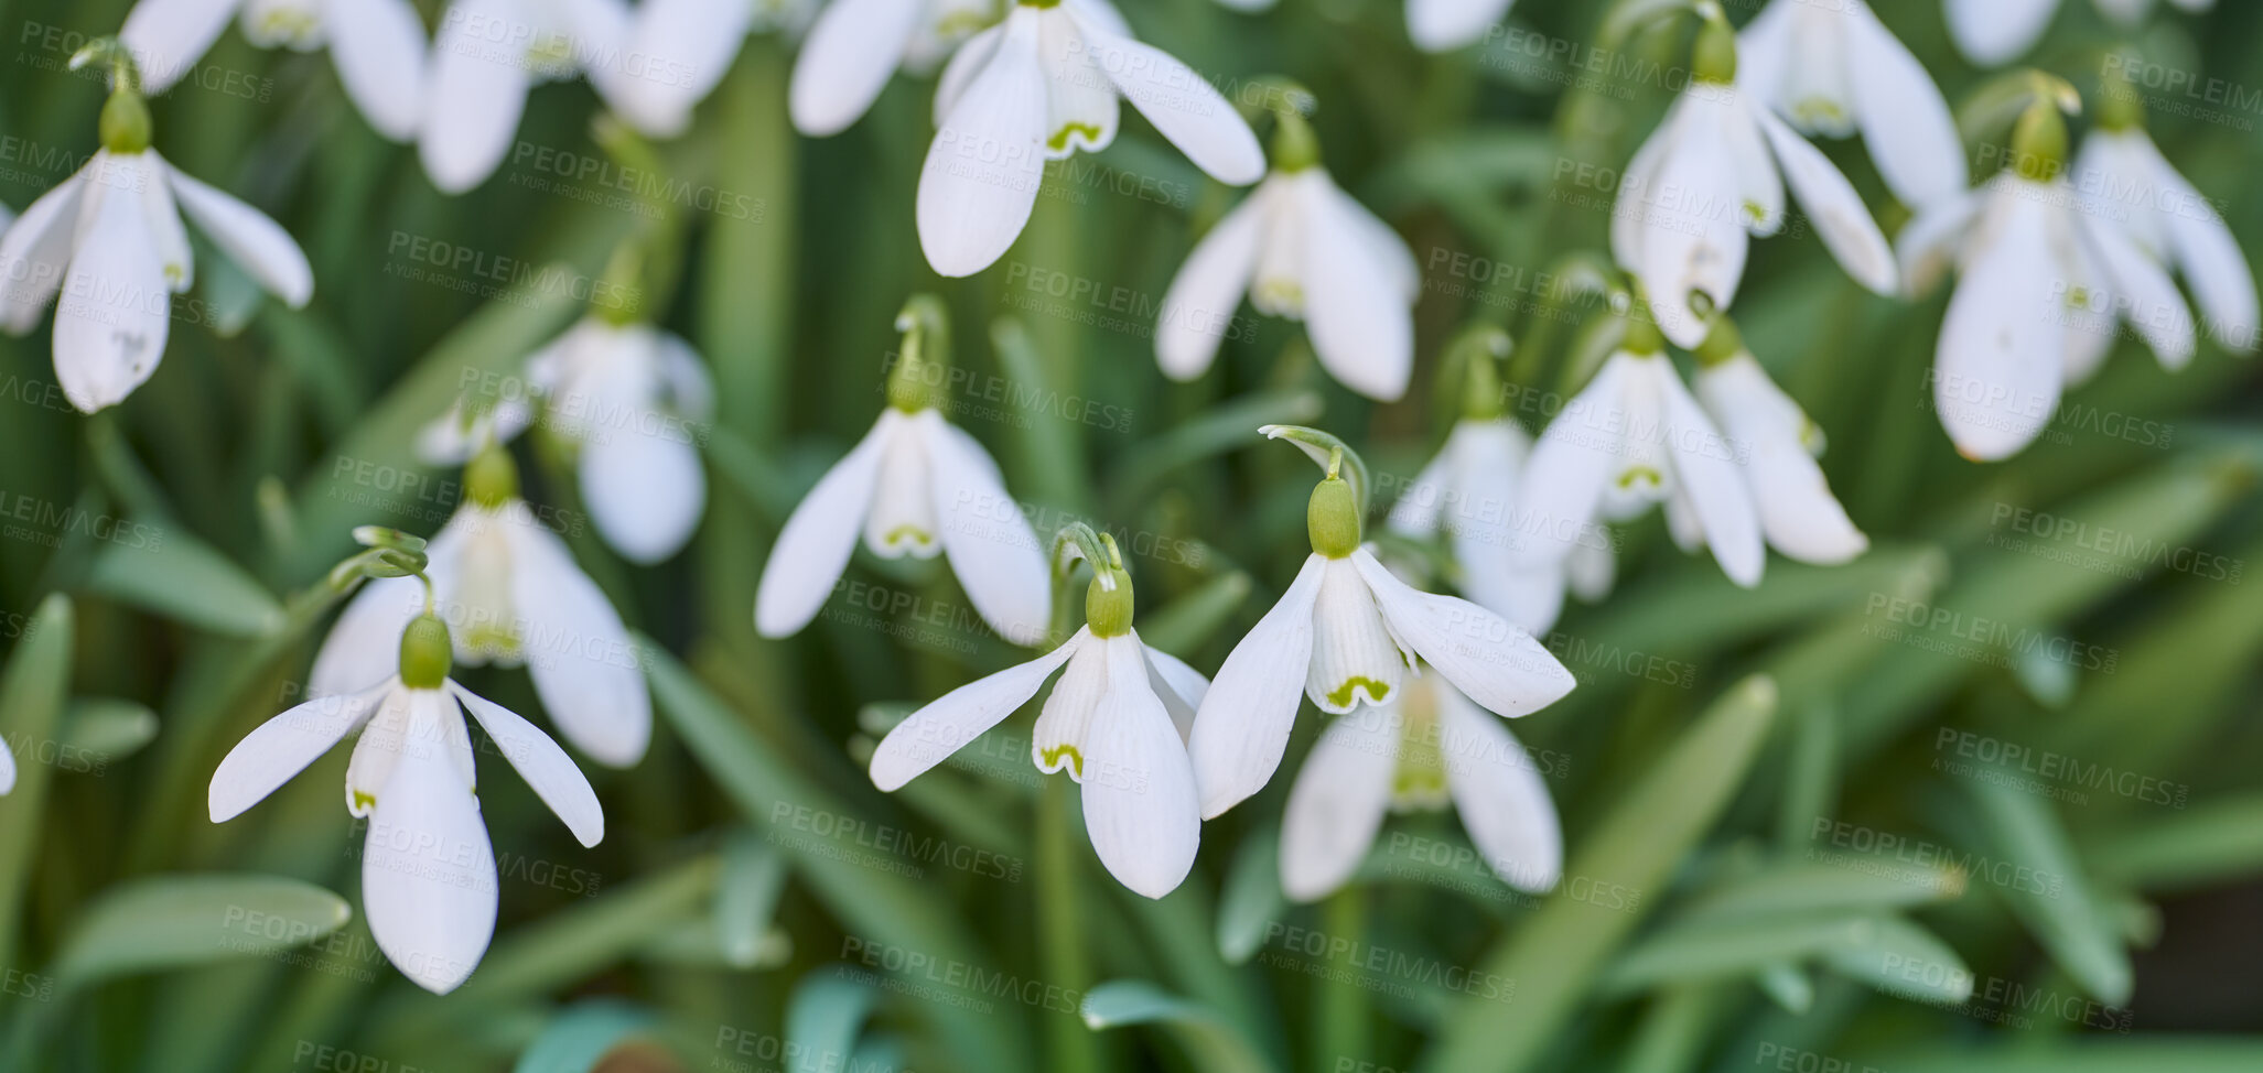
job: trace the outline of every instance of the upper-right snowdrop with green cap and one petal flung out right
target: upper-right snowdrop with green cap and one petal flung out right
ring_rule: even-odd
[[[1715,9],[1718,16],[1718,9]],[[1819,149],[1736,86],[1736,34],[1709,18],[1690,86],[1636,149],[1611,211],[1611,256],[1643,281],[1659,328],[1677,346],[1704,340],[1693,306],[1731,308],[1749,235],[1783,229],[1783,188],[1856,283],[1894,294],[1894,254]]]

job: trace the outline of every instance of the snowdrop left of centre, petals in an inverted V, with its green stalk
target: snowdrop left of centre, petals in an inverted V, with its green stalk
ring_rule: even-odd
[[[950,369],[941,317],[930,297],[903,308],[887,410],[785,518],[763,566],[754,598],[763,636],[792,636],[817,618],[862,532],[864,548],[883,559],[948,557],[991,629],[1016,645],[1043,641],[1052,589],[1036,532],[1007,493],[998,462],[937,410],[935,385]]]

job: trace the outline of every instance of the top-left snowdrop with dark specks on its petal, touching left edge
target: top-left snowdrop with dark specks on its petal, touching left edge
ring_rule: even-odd
[[[315,269],[281,224],[190,179],[149,147],[149,106],[115,41],[72,63],[106,61],[102,149],[32,201],[0,238],[0,328],[25,335],[54,308],[54,378],[70,405],[118,405],[156,374],[172,328],[172,294],[195,283],[183,213],[260,287],[301,308]]]

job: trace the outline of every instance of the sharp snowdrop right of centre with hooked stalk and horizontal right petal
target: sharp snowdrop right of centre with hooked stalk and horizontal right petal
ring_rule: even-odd
[[[1313,555],[1281,602],[1227,654],[1195,715],[1188,749],[1204,819],[1263,790],[1281,767],[1299,693],[1335,715],[1385,704],[1419,675],[1417,656],[1482,709],[1509,718],[1571,693],[1571,672],[1509,620],[1469,600],[1417,591],[1383,568],[1360,543],[1365,471],[1342,441],[1283,426],[1267,426],[1265,435],[1317,446],[1328,475],[1306,512]]]

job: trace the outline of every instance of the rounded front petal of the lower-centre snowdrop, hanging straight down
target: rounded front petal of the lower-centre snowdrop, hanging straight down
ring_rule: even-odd
[[[1093,711],[1084,765],[1084,831],[1118,883],[1161,899],[1186,881],[1202,844],[1195,770],[1163,702],[1147,688],[1136,636],[1098,638],[1109,693]]]

